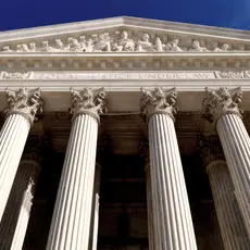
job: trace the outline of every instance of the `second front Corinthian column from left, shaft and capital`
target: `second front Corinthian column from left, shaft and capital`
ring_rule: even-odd
[[[99,114],[104,90],[71,89],[73,125],[66,149],[47,250],[88,249]]]

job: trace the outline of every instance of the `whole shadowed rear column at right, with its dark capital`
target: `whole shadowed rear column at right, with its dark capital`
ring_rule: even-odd
[[[250,240],[235,196],[235,188],[216,136],[199,138],[198,150],[210,179],[225,250],[247,250]]]

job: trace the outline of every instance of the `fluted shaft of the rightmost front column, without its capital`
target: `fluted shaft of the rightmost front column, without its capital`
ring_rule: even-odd
[[[223,115],[216,129],[250,236],[250,138],[242,120],[236,114]]]

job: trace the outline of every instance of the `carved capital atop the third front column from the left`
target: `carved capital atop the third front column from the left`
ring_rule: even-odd
[[[149,120],[153,114],[165,113],[174,120],[178,111],[176,88],[155,88],[154,90],[141,88],[141,92],[140,110],[143,117]]]

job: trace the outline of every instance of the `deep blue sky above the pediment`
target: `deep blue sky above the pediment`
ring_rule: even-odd
[[[0,30],[130,15],[250,30],[250,0],[0,0]]]

